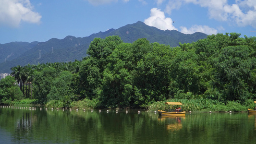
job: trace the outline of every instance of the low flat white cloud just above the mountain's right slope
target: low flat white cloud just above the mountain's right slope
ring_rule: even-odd
[[[184,34],[194,34],[195,32],[205,33],[207,35],[216,35],[217,30],[211,28],[207,25],[193,25],[191,28],[187,29],[186,27],[181,26],[181,32]]]

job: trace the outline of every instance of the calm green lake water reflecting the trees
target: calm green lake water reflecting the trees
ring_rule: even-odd
[[[0,108],[0,144],[256,144],[256,115]]]

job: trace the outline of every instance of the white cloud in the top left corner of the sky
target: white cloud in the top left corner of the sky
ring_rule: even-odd
[[[18,27],[21,21],[39,24],[41,15],[33,12],[29,0],[0,0],[0,24]]]

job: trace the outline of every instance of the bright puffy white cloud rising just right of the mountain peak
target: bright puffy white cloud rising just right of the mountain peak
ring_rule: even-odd
[[[157,27],[161,30],[177,30],[177,28],[172,25],[173,21],[171,18],[166,18],[164,12],[161,12],[160,9],[152,8],[150,12],[150,17],[144,20],[145,24]]]

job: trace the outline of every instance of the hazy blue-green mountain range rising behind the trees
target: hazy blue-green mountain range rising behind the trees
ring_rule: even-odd
[[[159,30],[138,21],[118,29],[109,29],[86,37],[66,36],[63,39],[51,38],[46,42],[11,42],[0,44],[0,73],[10,73],[17,65],[27,65],[46,62],[68,62],[82,60],[86,50],[95,37],[120,36],[123,42],[133,43],[138,38],[146,38],[151,43],[179,46],[181,43],[191,43],[207,37],[204,33],[183,34],[176,30]]]

